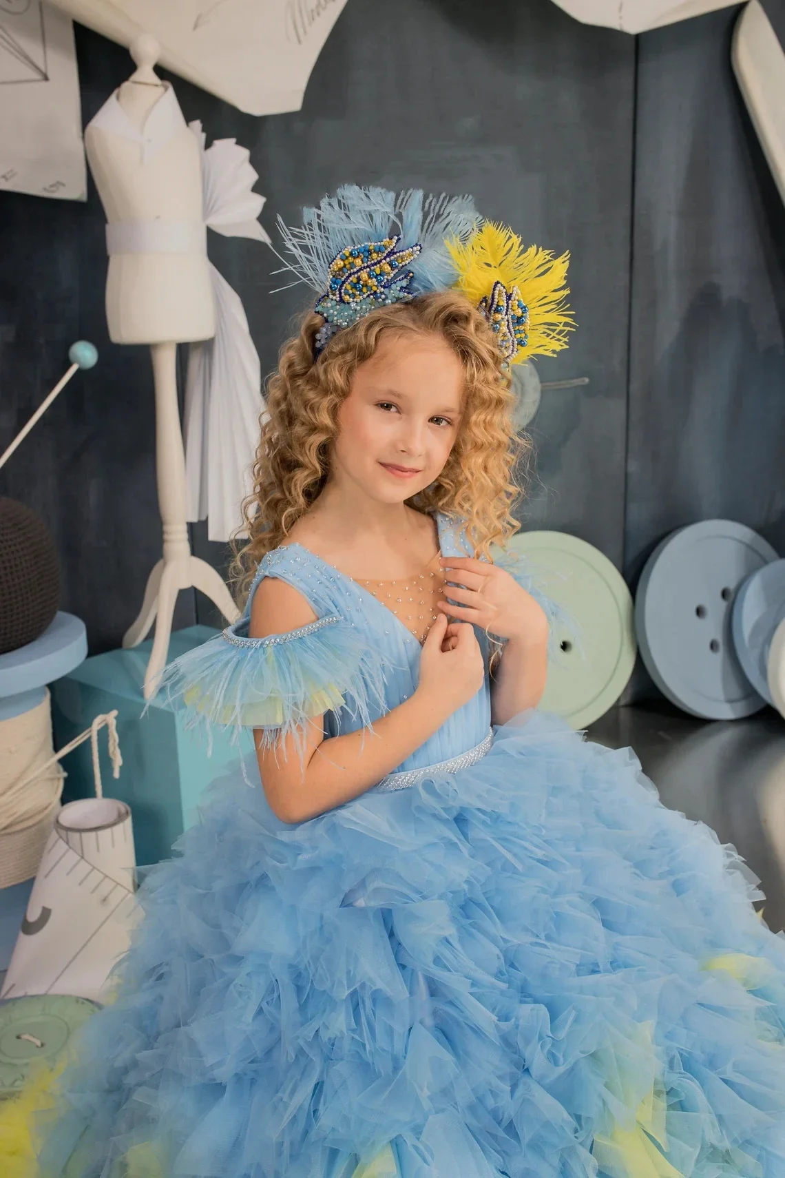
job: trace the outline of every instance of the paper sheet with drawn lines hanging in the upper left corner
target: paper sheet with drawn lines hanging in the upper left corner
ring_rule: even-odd
[[[73,26],[41,0],[0,0],[0,188],[87,194]]]

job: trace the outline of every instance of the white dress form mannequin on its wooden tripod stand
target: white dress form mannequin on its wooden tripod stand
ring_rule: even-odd
[[[148,343],[153,362],[164,554],[149,574],[139,615],[122,638],[125,649],[135,647],[155,622],[145,673],[146,700],[155,694],[158,676],[166,666],[180,589],[201,590],[227,622],[239,616],[220,574],[192,555],[188,541],[177,345],[212,337],[215,323],[204,247],[200,147],[171,88],[153,71],[158,52],[158,44],[149,37],[134,41],[131,53],[139,68],[106,104],[106,118],[102,120],[104,111],[99,112],[85,131],[87,159],[108,221],[109,337],[115,343]],[[119,112],[112,110],[113,102]],[[158,104],[166,105],[155,111]],[[121,119],[127,120],[125,128]],[[145,133],[152,119],[159,125],[160,141],[151,135],[148,144]],[[168,231],[174,243],[172,252],[160,250],[160,243],[149,252],[144,250],[151,225],[153,232],[161,225]],[[142,234],[142,247],[133,240],[134,232]]]

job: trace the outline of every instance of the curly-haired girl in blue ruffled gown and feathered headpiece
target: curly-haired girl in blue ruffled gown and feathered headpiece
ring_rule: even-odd
[[[255,757],[145,880],[42,1173],[781,1178],[783,940],[628,749],[535,710],[552,609],[490,558],[565,259],[354,187],[286,237],[319,297],[245,611],[166,673]]]

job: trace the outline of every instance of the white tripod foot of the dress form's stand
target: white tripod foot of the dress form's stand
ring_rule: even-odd
[[[162,557],[147,578],[145,600],[139,616],[122,638],[122,649],[138,647],[147,637],[155,622],[155,638],[145,671],[144,695],[152,700],[158,689],[158,677],[166,666],[172,634],[174,603],[180,589],[199,589],[217,605],[228,623],[235,622],[240,611],[219,573],[199,556],[166,560]]]

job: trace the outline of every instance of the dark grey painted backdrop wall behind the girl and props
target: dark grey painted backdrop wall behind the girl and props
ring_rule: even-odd
[[[779,21],[785,0],[770,7]],[[633,588],[664,534],[709,516],[785,552],[785,211],[730,66],[737,12],[636,40],[550,0],[350,0],[295,114],[252,118],[172,79],[208,141],[251,150],[270,231],[351,180],[470,191],[571,250],[579,330],[539,368],[590,384],[544,396],[521,519],[596,544]],[[79,26],[76,44],[87,121],[131,62]],[[304,292],[270,293],[261,245],[212,236],[209,250],[267,372]],[[108,342],[105,272],[92,184],[86,205],[0,193],[0,449],[73,339],[101,353],[0,472],[0,494],[48,521],[62,608],[92,653],[120,643],[160,550],[148,356]],[[224,567],[206,527],[192,534]],[[181,594],[175,627],[193,621],[218,620]],[[638,674],[625,699],[647,690]]]

